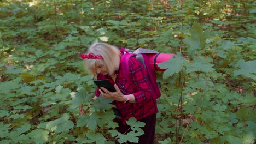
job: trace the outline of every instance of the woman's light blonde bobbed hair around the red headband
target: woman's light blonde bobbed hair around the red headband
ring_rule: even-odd
[[[94,43],[88,48],[87,53],[92,53],[93,55],[100,55],[103,57],[103,60],[86,59],[85,68],[91,72],[92,77],[96,75],[96,63],[106,65],[109,75],[113,75],[115,71],[119,69],[120,51],[118,47],[107,43]]]

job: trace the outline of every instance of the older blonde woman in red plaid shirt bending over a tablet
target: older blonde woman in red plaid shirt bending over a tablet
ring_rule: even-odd
[[[153,98],[152,86],[149,83],[148,74],[141,62],[131,57],[128,62],[129,74],[132,83],[127,81],[121,69],[120,50],[107,43],[92,44],[86,55],[85,67],[91,72],[92,77],[97,75],[98,80],[108,79],[114,86],[116,92],[109,92],[106,88],[97,88],[96,99],[100,94],[103,98],[113,99],[116,106],[115,113],[119,119],[117,130],[127,133],[130,126],[125,121],[135,117],[137,121],[146,123],[143,127],[144,135],[139,136],[139,143],[154,143],[156,113],[158,112],[156,100]],[[115,141],[115,143],[118,143]]]

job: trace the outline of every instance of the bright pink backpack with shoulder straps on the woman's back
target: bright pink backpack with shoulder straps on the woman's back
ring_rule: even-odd
[[[126,50],[124,48],[121,48],[120,52],[121,52],[122,71],[124,75],[130,75],[128,62],[131,57],[136,57],[136,59],[138,59],[138,61],[141,62],[144,65],[144,68],[147,70],[147,73],[149,76],[149,83],[152,86],[153,98],[154,99],[159,98],[161,96],[160,89],[159,89],[160,83],[159,84],[156,83],[156,71],[155,69],[150,67],[149,57],[148,57],[150,55],[156,55],[159,52],[154,50],[142,49],[142,48],[139,48],[136,51]],[[126,80],[132,83],[129,76],[126,77]]]

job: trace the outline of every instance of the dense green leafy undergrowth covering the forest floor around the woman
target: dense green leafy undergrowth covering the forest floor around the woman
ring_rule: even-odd
[[[138,142],[120,134],[111,100],[79,58],[95,41],[162,53],[155,143],[254,143],[255,3],[0,3],[0,143]],[[80,115],[79,107],[84,115]]]

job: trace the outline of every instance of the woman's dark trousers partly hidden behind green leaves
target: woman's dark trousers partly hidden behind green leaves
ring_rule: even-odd
[[[144,131],[144,134],[141,136],[138,136],[139,142],[141,144],[153,144],[154,143],[154,137],[155,137],[155,121],[156,121],[156,113],[149,115],[147,117],[144,117],[139,120],[139,122],[144,122],[146,123],[145,127],[142,128]],[[129,125],[123,125],[121,121],[116,121],[119,125],[117,130],[121,133],[124,134],[126,132],[129,133],[130,126]],[[128,131],[127,131],[128,130]],[[118,144],[119,142],[115,140],[115,144]],[[131,142],[126,142],[126,143],[131,143]]]

